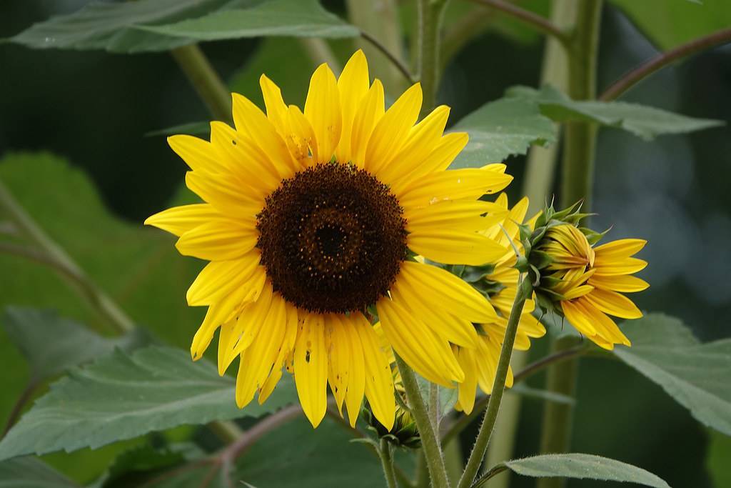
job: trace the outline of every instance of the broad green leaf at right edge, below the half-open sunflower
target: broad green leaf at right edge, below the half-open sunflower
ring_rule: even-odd
[[[702,424],[731,435],[731,338],[701,344],[681,320],[650,314],[622,330],[613,353],[662,386]]]

